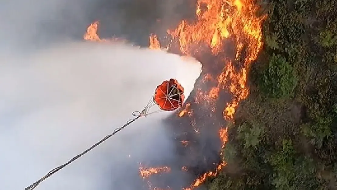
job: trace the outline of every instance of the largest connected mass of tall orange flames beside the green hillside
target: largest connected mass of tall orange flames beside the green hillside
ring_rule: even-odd
[[[233,119],[239,101],[248,96],[247,66],[262,49],[261,24],[265,16],[256,17],[254,13],[257,8],[251,0],[198,0],[197,21],[193,24],[182,21],[177,29],[168,30],[178,40],[181,52],[187,55],[193,55],[195,44],[206,44],[213,55],[218,55],[223,50],[224,39],[232,37],[237,41],[239,58],[244,43],[247,44],[243,69],[236,71],[231,61],[224,60],[224,70],[218,77],[218,88],[226,89],[233,95],[232,102],[224,109],[224,118],[227,120]],[[210,92],[210,98],[216,97],[217,92]],[[205,94],[198,93],[203,97],[200,101],[207,99]]]

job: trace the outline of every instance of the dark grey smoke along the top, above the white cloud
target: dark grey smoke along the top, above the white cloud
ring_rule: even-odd
[[[180,0],[3,0],[0,43],[5,49],[1,51],[82,40],[87,26],[97,20],[102,38],[114,35],[147,46],[150,33],[165,35],[181,19],[194,18],[194,5]]]

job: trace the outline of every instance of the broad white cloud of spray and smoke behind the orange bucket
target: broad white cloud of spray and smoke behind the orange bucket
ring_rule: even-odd
[[[195,60],[120,44],[68,43],[16,56],[2,55],[0,65],[3,190],[24,189],[122,126],[163,80],[191,91],[201,72]],[[140,118],[36,189],[135,190],[138,162],[173,155],[161,123],[168,114]]]

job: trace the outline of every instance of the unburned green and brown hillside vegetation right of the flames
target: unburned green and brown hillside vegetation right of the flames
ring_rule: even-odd
[[[265,47],[208,189],[337,189],[337,0],[263,7]]]

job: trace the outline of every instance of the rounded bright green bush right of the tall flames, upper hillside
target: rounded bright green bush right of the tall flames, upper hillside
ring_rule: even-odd
[[[290,98],[298,79],[293,66],[281,55],[273,54],[269,67],[263,72],[262,90],[271,98]]]

